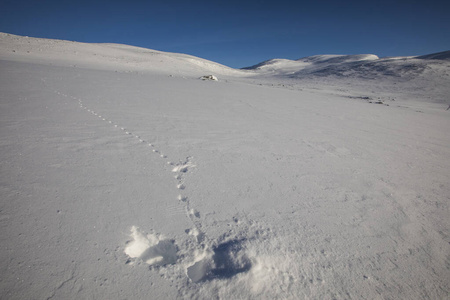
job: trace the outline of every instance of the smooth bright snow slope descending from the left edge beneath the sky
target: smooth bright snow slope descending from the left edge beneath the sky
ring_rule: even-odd
[[[186,54],[161,52],[119,44],[87,44],[21,37],[0,33],[3,59],[115,71],[152,71],[169,75],[200,76],[205,72],[245,74],[221,64]]]

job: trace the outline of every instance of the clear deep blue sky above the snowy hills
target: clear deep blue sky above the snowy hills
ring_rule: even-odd
[[[450,1],[3,0],[0,31],[192,54],[231,67],[450,50]]]

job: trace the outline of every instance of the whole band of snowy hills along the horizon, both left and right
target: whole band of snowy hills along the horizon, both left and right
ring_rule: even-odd
[[[271,59],[233,69],[191,55],[120,44],[88,44],[0,33],[0,59],[114,70],[226,79],[344,97],[417,100],[449,105],[450,51],[412,57],[373,54]],[[371,85],[370,91],[366,86]]]

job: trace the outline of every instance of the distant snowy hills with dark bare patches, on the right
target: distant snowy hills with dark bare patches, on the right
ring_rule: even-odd
[[[335,95],[450,104],[450,51],[416,57],[316,55],[273,59],[252,67],[265,85],[328,90]]]

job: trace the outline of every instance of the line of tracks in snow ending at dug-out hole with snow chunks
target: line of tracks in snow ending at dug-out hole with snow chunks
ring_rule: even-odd
[[[229,279],[240,273],[250,271],[254,262],[246,254],[246,244],[250,239],[245,234],[237,237],[236,235],[239,234],[233,236],[228,233],[224,234],[218,241],[213,241],[203,231],[201,214],[191,207],[191,201],[185,192],[187,187],[184,176],[190,169],[195,167],[192,162],[192,157],[188,156],[185,160],[174,163],[169,160],[167,155],[161,153],[153,143],[147,142],[139,135],[133,134],[127,127],[121,126],[109,120],[103,114],[89,108],[83,103],[82,99],[59,91],[54,92],[63,97],[78,101],[80,109],[111,124],[125,135],[134,137],[140,143],[147,144],[152,153],[164,159],[168,165],[173,166],[171,171],[176,180],[175,188],[179,190],[176,205],[184,207],[186,216],[192,223],[192,228],[185,230],[186,234],[192,237],[191,240],[188,240],[183,245],[186,248],[182,251],[185,255],[179,255],[181,249],[179,249],[175,240],[167,238],[163,234],[153,232],[146,234],[144,230],[133,225],[130,234],[131,240],[127,243],[124,250],[125,254],[129,257],[126,262],[127,264],[142,261],[155,267],[179,265],[189,281],[194,284]],[[237,223],[236,220],[235,223]],[[174,274],[174,276],[177,275]]]

